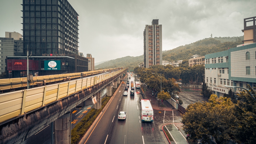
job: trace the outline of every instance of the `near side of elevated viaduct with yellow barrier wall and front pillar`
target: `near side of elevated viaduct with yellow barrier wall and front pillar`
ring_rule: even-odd
[[[1,94],[0,143],[21,143],[53,121],[55,143],[67,143],[70,111],[106,86],[111,91],[126,70]]]

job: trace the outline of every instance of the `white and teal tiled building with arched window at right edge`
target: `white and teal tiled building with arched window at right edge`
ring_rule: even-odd
[[[228,93],[225,85],[246,88],[249,84],[256,87],[256,43],[206,54],[205,82],[217,96]],[[235,92],[238,90],[233,89]]]

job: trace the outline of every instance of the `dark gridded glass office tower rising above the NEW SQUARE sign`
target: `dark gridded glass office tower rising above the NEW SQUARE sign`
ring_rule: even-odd
[[[78,54],[78,14],[67,0],[23,0],[22,5],[23,48],[29,54]]]

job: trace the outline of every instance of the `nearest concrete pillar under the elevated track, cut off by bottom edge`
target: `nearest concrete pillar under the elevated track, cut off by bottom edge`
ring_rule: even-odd
[[[69,144],[70,142],[70,113],[66,113],[55,123],[55,144]]]

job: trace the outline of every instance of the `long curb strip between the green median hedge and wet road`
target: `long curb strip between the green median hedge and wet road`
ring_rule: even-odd
[[[109,99],[107,105],[105,105],[105,107],[101,110],[100,114],[97,116],[97,118],[93,121],[92,125],[90,126],[90,128],[86,131],[86,133],[83,135],[83,137],[79,140],[78,144],[82,144],[82,142],[85,140],[85,138],[87,137],[87,135],[91,132],[91,130],[95,127],[96,123],[98,122],[99,118],[102,116],[102,112],[104,112],[107,107],[110,105],[110,102],[114,99],[114,95],[117,93],[118,89],[120,88],[121,85],[118,86],[117,90],[115,91],[115,93],[111,96],[111,98]]]

